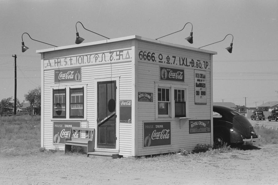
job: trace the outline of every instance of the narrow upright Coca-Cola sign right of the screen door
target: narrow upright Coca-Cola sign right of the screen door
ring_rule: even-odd
[[[131,100],[120,100],[120,123],[131,123]]]

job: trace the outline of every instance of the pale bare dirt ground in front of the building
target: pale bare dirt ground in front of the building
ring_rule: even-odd
[[[212,156],[145,159],[41,153],[1,157],[0,184],[278,184],[278,144]]]

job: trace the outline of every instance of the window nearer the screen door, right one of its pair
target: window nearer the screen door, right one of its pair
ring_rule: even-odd
[[[70,118],[84,118],[84,88],[70,89]]]

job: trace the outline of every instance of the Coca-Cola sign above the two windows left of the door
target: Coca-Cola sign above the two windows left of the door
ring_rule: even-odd
[[[54,82],[80,82],[81,68],[54,70]]]

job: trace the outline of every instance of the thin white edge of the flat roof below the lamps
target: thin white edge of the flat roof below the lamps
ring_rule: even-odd
[[[196,51],[196,52],[217,54],[216,51],[204,50],[204,49],[199,49],[199,48],[190,47],[190,46],[183,46],[183,45],[174,44],[174,43],[170,43],[170,42],[163,42],[160,40],[145,38],[145,37],[141,37],[138,35],[131,35],[131,36],[120,37],[120,38],[111,38],[111,39],[106,39],[106,40],[101,40],[101,41],[86,42],[86,43],[74,44],[74,45],[68,45],[68,46],[58,46],[58,47],[53,47],[53,48],[48,48],[48,49],[43,49],[43,50],[36,50],[36,53],[44,53],[44,52],[59,51],[59,50],[66,50],[66,49],[73,49],[73,48],[81,48],[81,47],[86,47],[86,46],[94,46],[94,45],[105,44],[105,43],[120,42],[120,41],[126,41],[126,40],[131,40],[131,39],[138,39],[138,40],[142,40],[142,41],[146,41],[146,42],[152,42],[152,43],[157,43],[157,44],[166,45],[166,46],[178,47],[178,48],[192,50],[192,51]]]

